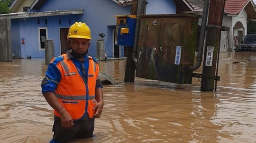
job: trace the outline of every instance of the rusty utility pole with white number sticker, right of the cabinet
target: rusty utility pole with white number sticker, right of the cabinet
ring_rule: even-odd
[[[213,91],[214,89],[218,47],[222,31],[223,5],[223,0],[210,0],[201,91]]]

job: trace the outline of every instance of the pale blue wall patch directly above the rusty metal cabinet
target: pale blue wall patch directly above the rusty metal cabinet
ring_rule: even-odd
[[[146,14],[176,14],[176,4],[173,0],[147,0]]]

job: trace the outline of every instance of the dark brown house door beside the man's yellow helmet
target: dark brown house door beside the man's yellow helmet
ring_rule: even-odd
[[[69,32],[69,28],[60,28],[60,48],[61,54],[67,53],[67,34]]]

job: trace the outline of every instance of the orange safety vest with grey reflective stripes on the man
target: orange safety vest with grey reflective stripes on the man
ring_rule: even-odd
[[[55,89],[56,97],[60,104],[69,112],[73,120],[78,120],[86,113],[93,118],[93,107],[96,104],[95,86],[98,78],[99,67],[92,57],[88,56],[89,69],[88,80],[78,73],[72,60],[67,60],[67,55],[61,55],[64,59],[57,63],[61,73],[61,80]],[[52,60],[54,61],[54,60]],[[60,117],[60,113],[54,110],[54,115]]]

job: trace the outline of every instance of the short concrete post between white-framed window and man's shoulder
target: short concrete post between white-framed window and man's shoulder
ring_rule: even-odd
[[[54,58],[54,41],[53,40],[45,40],[45,64],[49,64],[51,60]]]

